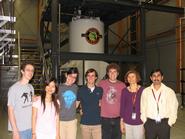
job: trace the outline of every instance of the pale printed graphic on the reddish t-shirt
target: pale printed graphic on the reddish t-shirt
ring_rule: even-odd
[[[109,104],[114,104],[116,102],[116,92],[117,90],[113,86],[109,86],[109,90],[106,96],[106,100]]]

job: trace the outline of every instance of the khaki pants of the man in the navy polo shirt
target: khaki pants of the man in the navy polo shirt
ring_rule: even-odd
[[[81,124],[83,139],[101,139],[101,125],[83,125]],[[92,138],[91,138],[92,137]]]

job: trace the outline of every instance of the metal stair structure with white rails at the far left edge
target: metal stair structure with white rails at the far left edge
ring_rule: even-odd
[[[3,110],[7,109],[8,88],[18,79],[17,59],[12,60],[16,35],[12,5],[13,1],[0,0],[0,102]]]

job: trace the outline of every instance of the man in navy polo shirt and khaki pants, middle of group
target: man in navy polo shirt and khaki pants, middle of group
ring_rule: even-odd
[[[82,86],[77,94],[77,101],[80,101],[82,107],[81,132],[83,139],[101,139],[101,117],[100,100],[103,90],[97,87],[95,82],[98,74],[95,69],[88,69],[85,78],[87,84]]]

